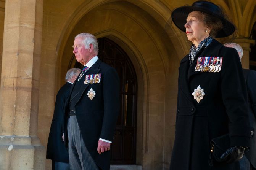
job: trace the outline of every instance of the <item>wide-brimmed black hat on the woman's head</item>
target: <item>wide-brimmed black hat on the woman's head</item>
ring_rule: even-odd
[[[184,25],[187,22],[188,14],[193,11],[201,11],[221,20],[222,29],[216,33],[216,38],[227,37],[232,35],[232,33],[235,31],[235,26],[230,21],[225,19],[221,8],[208,1],[196,1],[191,6],[181,6],[176,8],[172,12],[172,21],[180,30],[186,32]]]

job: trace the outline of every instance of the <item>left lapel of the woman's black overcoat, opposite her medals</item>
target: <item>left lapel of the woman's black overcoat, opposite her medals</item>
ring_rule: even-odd
[[[180,62],[180,70],[179,70],[179,88],[187,97],[187,99],[193,103],[192,101],[192,92],[189,90],[189,84],[187,81],[188,69],[190,67],[190,62],[188,59],[188,55]]]

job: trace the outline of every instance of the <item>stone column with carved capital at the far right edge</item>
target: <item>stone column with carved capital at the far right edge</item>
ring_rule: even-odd
[[[242,66],[243,68],[249,69],[249,53],[251,51],[250,46],[251,44],[254,44],[255,41],[249,38],[236,38],[233,42],[239,44],[243,48]]]

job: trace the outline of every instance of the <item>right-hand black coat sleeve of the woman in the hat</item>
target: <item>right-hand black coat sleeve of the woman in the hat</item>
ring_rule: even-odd
[[[231,146],[249,146],[247,91],[242,65],[233,48],[222,48],[221,95],[229,117]]]

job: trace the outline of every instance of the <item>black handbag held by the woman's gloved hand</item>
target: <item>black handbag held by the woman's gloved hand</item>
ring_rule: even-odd
[[[230,148],[229,134],[222,135],[211,140],[211,151],[209,155],[208,164],[213,167],[215,165],[223,164],[221,155]]]

